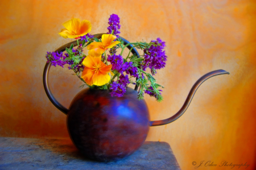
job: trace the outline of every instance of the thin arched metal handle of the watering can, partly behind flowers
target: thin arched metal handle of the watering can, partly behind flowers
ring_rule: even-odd
[[[100,39],[101,36],[103,34],[95,34],[93,35],[95,38],[98,38]],[[121,39],[123,41],[123,44],[129,44],[129,42],[122,38],[121,36],[119,36],[119,39]],[[81,40],[79,40],[79,43],[82,43]],[[71,44],[73,44],[73,46],[77,46],[77,41],[75,40],[74,42],[71,42],[71,43],[68,43],[68,44],[65,44],[63,46],[61,46],[60,48],[58,48],[56,51],[58,52],[64,52],[66,50],[66,48],[70,48]],[[127,48],[131,49],[133,47],[133,45],[128,45]],[[55,52],[56,52],[55,51]],[[133,53],[133,55],[136,55],[139,57],[139,53],[138,51],[133,48],[131,49],[131,53]],[[57,109],[59,109],[60,111],[62,111],[64,114],[67,114],[68,113],[68,109],[66,107],[64,107],[63,105],[61,105],[57,99],[53,96],[52,92],[51,92],[51,89],[49,88],[49,82],[48,82],[48,74],[49,74],[49,69],[51,68],[51,62],[49,63],[46,63],[46,66],[44,67],[44,73],[43,73],[43,84],[44,84],[44,90],[46,90],[46,94],[49,98],[49,100],[52,102],[52,104],[57,107]],[[138,90],[138,86],[135,85],[135,88],[134,90]]]

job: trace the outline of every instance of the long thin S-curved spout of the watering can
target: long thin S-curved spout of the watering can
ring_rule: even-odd
[[[196,81],[196,83],[193,85],[192,89],[188,93],[188,97],[185,100],[185,103],[183,104],[181,109],[175,115],[173,115],[172,117],[170,117],[168,119],[164,119],[161,121],[151,121],[150,126],[166,125],[168,123],[176,121],[188,109],[188,106],[189,106],[190,102],[192,101],[192,98],[195,95],[196,90],[199,88],[199,86],[208,78],[213,77],[213,76],[218,76],[221,74],[229,74],[229,72],[226,72],[226,71],[220,69],[217,71],[209,72],[209,73],[205,74],[204,76],[202,76],[201,78],[199,78],[199,80]]]

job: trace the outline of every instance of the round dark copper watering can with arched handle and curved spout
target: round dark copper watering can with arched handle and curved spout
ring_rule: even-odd
[[[100,39],[101,35],[96,34],[94,37]],[[129,43],[126,39],[121,39],[125,45]],[[71,44],[75,47],[77,42],[65,44],[56,51],[63,52]],[[129,49],[132,47],[133,45],[127,46]],[[135,48],[131,52],[139,56]],[[67,115],[69,136],[75,146],[86,157],[99,161],[119,160],[133,154],[144,143],[150,126],[166,125],[183,115],[196,90],[205,80],[229,74],[221,69],[205,74],[192,86],[183,106],[175,115],[161,121],[150,121],[146,102],[137,99],[137,85],[134,90],[128,88],[123,97],[111,97],[109,90],[86,88],[76,95],[69,109],[65,108],[49,89],[50,68],[51,63],[46,63],[43,73],[44,90],[49,100]]]

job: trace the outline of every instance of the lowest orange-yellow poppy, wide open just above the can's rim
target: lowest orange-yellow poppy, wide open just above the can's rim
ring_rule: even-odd
[[[101,61],[101,57],[92,57],[88,55],[85,57],[84,61],[82,61],[85,68],[82,71],[82,79],[86,82],[86,84],[92,86],[102,86],[109,82],[110,76],[109,72],[111,72],[112,65],[106,65]]]

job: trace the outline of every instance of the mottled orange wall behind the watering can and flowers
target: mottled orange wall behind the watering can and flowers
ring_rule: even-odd
[[[65,21],[87,19],[90,33],[97,34],[108,31],[114,13],[121,18],[121,36],[130,42],[166,41],[167,65],[156,74],[166,87],[164,101],[146,97],[151,120],[175,114],[203,74],[230,72],[204,82],[186,113],[174,123],[151,127],[147,140],[168,142],[181,169],[194,169],[192,161],[203,160],[255,169],[255,1],[13,0],[0,7],[0,136],[69,138],[66,116],[43,89],[46,51],[73,41],[58,35]],[[66,107],[81,90],[82,82],[67,67],[52,67],[49,81]]]

